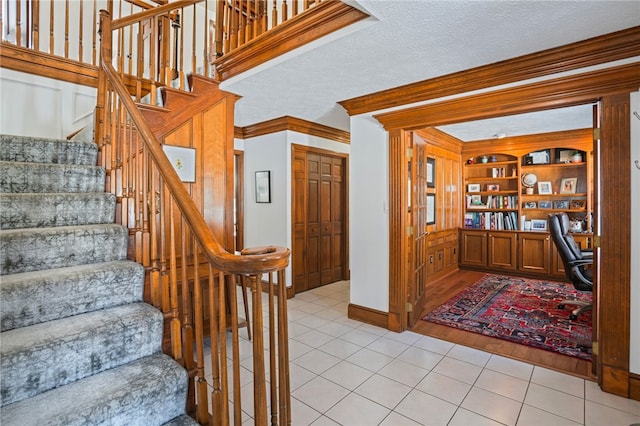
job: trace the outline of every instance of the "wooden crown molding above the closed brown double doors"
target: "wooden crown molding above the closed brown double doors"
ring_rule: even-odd
[[[351,134],[349,132],[289,116],[274,118],[273,120],[242,127],[239,131],[236,130],[236,137],[238,139],[248,139],[282,132],[284,130],[291,130],[293,132],[304,133],[346,144],[349,144],[351,141]]]

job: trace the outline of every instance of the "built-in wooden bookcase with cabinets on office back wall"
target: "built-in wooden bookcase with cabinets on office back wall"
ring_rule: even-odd
[[[589,244],[592,130],[467,142],[462,159],[460,266],[564,277],[547,219],[566,212]]]

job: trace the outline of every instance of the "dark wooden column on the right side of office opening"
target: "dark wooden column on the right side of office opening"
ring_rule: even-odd
[[[600,371],[602,390],[629,396],[631,155],[629,94],[602,98],[600,149]]]

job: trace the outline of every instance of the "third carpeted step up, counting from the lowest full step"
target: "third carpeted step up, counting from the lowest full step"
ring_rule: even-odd
[[[117,260],[5,275],[1,331],[142,301],[144,268]]]

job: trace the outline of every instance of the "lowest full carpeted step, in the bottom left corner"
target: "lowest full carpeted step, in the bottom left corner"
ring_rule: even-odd
[[[187,373],[148,356],[2,407],[3,425],[162,425],[185,412]]]

